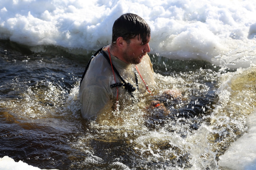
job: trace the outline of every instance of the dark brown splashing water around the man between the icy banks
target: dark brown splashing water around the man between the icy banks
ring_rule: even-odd
[[[221,169],[219,155],[247,131],[246,111],[231,115],[235,106],[230,105],[214,112],[220,95],[215,92],[222,83],[219,75],[228,70],[218,72],[206,61],[156,54],[150,55],[158,86],[154,96],[124,110],[129,116],[122,125],[84,120],[78,90],[92,52],[44,49],[35,53],[0,41],[1,158],[7,155],[41,169]],[[255,82],[248,78],[254,74],[240,82]],[[171,88],[180,89],[183,99],[162,94]],[[168,114],[144,109],[156,99]],[[254,98],[250,99],[253,107]],[[212,117],[220,113],[222,117]],[[232,116],[239,121],[230,122]]]

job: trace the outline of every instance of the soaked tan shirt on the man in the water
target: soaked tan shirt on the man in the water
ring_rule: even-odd
[[[108,51],[104,50],[108,54]],[[112,55],[111,61],[125,82],[131,83],[136,88],[133,92],[135,100],[148,93],[146,85],[149,89],[154,88],[154,71],[147,54],[142,58],[142,62],[137,64],[138,71],[146,83],[145,85],[141,76],[137,74],[139,91],[135,82],[135,64],[127,64]],[[138,72],[136,71],[136,73]],[[118,87],[118,90],[116,87],[110,87],[110,85],[115,83],[123,83],[116,73],[115,79],[116,82],[110,63],[104,58],[102,53],[99,53],[92,59],[79,90],[83,118],[95,120],[102,112],[111,110],[116,102],[117,93],[121,107],[131,104],[134,98],[131,97],[124,87]]]

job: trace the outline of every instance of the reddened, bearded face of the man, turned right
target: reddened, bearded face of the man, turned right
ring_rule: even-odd
[[[125,62],[129,64],[139,64],[143,56],[150,52],[150,47],[148,44],[149,41],[150,37],[148,38],[147,42],[144,43],[142,42],[140,36],[130,39],[130,43],[127,43],[123,52],[123,59]]]

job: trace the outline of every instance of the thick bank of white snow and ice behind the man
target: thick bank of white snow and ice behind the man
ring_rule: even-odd
[[[151,27],[152,53],[220,65],[239,45],[255,49],[255,6],[250,0],[3,0],[0,38],[31,46],[98,49],[111,42],[115,19],[132,12]],[[249,54],[253,63],[254,54]],[[248,67],[250,61],[230,66]]]

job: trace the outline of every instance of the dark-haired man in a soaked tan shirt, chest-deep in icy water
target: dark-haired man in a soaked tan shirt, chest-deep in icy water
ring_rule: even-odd
[[[151,93],[155,81],[147,54],[150,34],[149,25],[138,15],[124,14],[114,22],[111,44],[91,60],[81,81],[83,118],[96,120]]]

